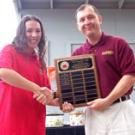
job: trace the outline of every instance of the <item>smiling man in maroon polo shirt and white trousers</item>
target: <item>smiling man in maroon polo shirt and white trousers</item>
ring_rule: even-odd
[[[135,106],[129,96],[135,82],[133,51],[124,39],[101,31],[102,17],[93,5],[81,5],[76,20],[86,42],[73,55],[95,55],[101,90],[101,98],[87,103],[86,135],[134,135]],[[73,109],[65,104],[63,111]]]

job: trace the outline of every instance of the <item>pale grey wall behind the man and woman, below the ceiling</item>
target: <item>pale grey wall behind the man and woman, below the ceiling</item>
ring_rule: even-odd
[[[84,42],[76,28],[75,10],[25,10],[22,14],[41,18],[50,41],[50,64],[54,58],[70,55],[72,43]],[[101,14],[103,31],[135,43],[135,10],[101,10]]]

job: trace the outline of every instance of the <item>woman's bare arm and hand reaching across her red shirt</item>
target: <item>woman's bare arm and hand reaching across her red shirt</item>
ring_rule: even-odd
[[[42,104],[53,99],[52,92],[47,87],[40,87],[12,69],[0,68],[0,79],[14,87],[33,92],[36,100]]]

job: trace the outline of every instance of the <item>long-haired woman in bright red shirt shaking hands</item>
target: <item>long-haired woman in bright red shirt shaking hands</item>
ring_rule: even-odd
[[[45,104],[53,100],[46,73],[41,21],[24,16],[0,53],[0,135],[45,135]]]

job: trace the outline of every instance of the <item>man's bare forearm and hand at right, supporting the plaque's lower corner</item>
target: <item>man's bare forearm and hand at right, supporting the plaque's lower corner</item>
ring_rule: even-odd
[[[128,90],[134,85],[135,76],[124,75],[116,84],[112,92],[106,98],[99,98],[88,102],[88,107],[93,110],[104,110],[109,107],[115,100],[125,95]]]

